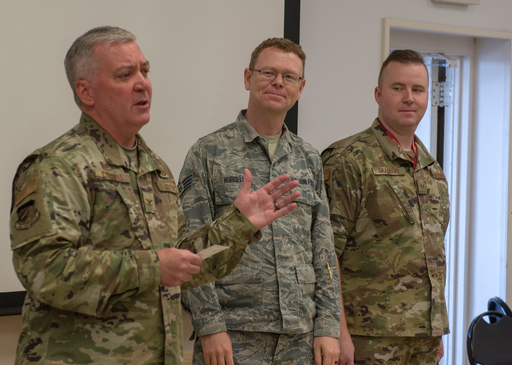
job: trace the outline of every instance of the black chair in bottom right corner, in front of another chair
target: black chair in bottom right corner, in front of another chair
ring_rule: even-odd
[[[512,317],[497,311],[477,315],[467,330],[466,350],[471,365],[512,364]]]

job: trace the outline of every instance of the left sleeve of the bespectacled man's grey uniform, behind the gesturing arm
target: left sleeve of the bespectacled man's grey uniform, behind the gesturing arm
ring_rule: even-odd
[[[203,224],[210,224],[215,218],[207,171],[208,161],[204,146],[197,142],[185,157],[179,179],[187,232],[194,232]],[[185,309],[190,312],[196,335],[227,330],[214,284],[182,291],[182,301]]]

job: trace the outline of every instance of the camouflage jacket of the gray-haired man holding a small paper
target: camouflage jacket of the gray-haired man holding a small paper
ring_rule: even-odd
[[[183,363],[180,287],[159,285],[155,250],[232,244],[189,287],[225,275],[259,237],[231,207],[183,238],[174,178],[139,135],[137,142],[138,171],[82,114],[18,168],[11,244],[28,294],[16,364]]]

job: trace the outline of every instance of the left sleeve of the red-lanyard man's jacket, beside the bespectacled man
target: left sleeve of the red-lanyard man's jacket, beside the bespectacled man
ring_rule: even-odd
[[[361,175],[344,155],[324,152],[322,161],[334,247],[341,256],[359,214]]]

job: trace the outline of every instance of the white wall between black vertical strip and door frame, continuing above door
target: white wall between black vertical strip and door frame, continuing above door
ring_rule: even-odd
[[[306,88],[298,134],[322,151],[367,128],[377,116],[373,91],[381,64],[382,18],[511,32],[511,13],[510,0],[471,6],[431,0],[303,0]]]

